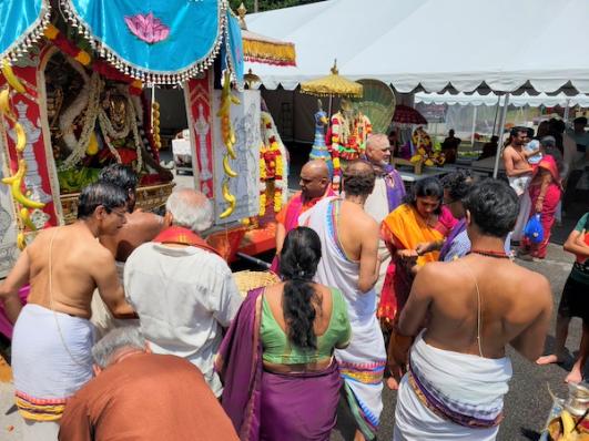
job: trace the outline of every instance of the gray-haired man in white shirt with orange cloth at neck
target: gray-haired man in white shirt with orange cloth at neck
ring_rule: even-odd
[[[181,188],[165,208],[171,226],[126,259],[125,294],[152,350],[186,358],[220,397],[213,357],[242,297],[225,260],[199,236],[213,223],[211,201]]]

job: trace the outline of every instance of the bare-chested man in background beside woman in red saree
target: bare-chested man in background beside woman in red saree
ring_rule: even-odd
[[[526,127],[514,127],[509,136],[509,144],[502,153],[505,173],[509,180],[509,185],[516,191],[519,198],[519,214],[511,235],[511,239],[516,242],[522,238],[524,227],[528,222],[531,208],[528,185],[531,181],[532,167],[528,163],[528,154],[524,151],[524,145],[527,141],[528,130]]]

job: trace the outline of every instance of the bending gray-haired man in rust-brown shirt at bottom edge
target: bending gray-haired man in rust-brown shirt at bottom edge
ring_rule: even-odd
[[[68,401],[60,441],[237,440],[199,369],[152,353],[138,327],[109,332],[92,358],[97,377]]]

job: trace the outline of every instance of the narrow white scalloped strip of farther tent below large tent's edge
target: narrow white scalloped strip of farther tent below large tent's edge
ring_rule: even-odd
[[[416,103],[424,104],[448,104],[448,105],[488,105],[495,106],[499,96],[495,93],[489,93],[487,95],[481,95],[479,93],[465,94],[459,92],[457,94],[451,94],[449,92],[445,93],[426,93],[418,92],[415,94]],[[561,106],[561,107],[573,107],[579,105],[581,107],[589,107],[589,96],[585,94],[578,94],[573,96],[567,96],[565,93],[559,93],[557,95],[548,95],[546,93],[539,93],[538,95],[530,95],[528,93],[522,93],[521,95],[514,95],[509,100],[509,104],[522,107],[529,105],[530,107],[539,107],[545,105],[547,107]]]

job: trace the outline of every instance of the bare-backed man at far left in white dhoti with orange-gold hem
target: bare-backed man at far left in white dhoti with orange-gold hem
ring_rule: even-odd
[[[55,421],[65,400],[92,378],[93,290],[98,287],[115,317],[134,316],[114,258],[97,239],[121,228],[125,212],[122,188],[103,183],[85,187],[78,222],[42,230],[0,286],[0,299],[16,321],[12,369],[26,439],[57,439]],[[31,290],[21,308],[18,290],[26,283]]]

